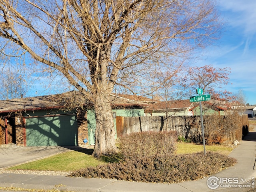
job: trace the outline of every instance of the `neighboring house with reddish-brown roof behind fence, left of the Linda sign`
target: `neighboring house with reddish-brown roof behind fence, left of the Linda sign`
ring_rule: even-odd
[[[193,103],[186,100],[162,101],[154,103],[145,109],[146,116],[192,116],[190,108]]]

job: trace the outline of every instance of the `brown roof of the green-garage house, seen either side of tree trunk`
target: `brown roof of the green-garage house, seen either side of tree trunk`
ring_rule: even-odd
[[[111,95],[111,104],[114,107],[131,107],[131,106],[147,106],[148,102],[143,102],[146,98],[130,96],[131,99]],[[132,100],[138,98],[138,100]],[[140,99],[142,101],[140,101]],[[150,99],[148,99],[150,100]],[[16,112],[28,110],[40,110],[48,108],[67,108],[71,104],[74,106],[91,106],[92,103],[82,97],[77,91],[65,92],[62,94],[54,94],[47,96],[36,96],[27,98],[15,98],[10,100],[0,100],[0,112]]]

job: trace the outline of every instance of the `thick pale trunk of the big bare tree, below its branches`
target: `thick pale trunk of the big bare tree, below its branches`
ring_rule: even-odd
[[[94,101],[96,116],[94,156],[116,152],[114,120],[109,95],[97,94]]]

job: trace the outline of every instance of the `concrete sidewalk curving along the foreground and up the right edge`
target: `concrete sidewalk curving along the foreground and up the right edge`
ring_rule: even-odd
[[[208,177],[197,181],[175,184],[153,184],[100,178],[86,179],[69,178],[66,176],[43,176],[8,173],[0,174],[0,187],[58,189],[76,192],[242,192],[250,190],[254,186],[254,184],[252,184],[252,178],[256,177],[256,170],[254,170],[256,159],[255,155],[256,132],[249,132],[249,134],[245,137],[245,140],[240,142],[239,146],[230,153],[230,157],[236,158],[238,163],[214,175],[219,180],[222,180],[223,178],[231,178],[230,182],[220,182],[216,185],[213,184],[211,187],[218,187],[214,190],[207,186],[207,183],[212,180],[212,177],[210,177],[209,181]],[[238,183],[236,180],[238,180]],[[238,184],[241,186],[238,186]],[[223,185],[227,187],[223,187]]]

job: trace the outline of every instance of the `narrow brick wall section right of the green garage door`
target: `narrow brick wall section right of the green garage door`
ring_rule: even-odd
[[[84,145],[84,139],[88,140],[87,111],[80,110],[77,113],[78,145]],[[88,143],[86,143],[88,145]]]

